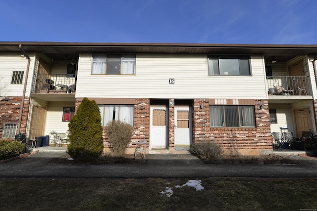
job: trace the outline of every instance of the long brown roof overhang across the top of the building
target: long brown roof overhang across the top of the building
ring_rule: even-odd
[[[317,45],[290,44],[195,44],[195,43],[104,43],[104,42],[0,42],[0,52],[41,52],[53,59],[78,58],[81,52],[164,54],[259,54],[280,62],[295,56],[317,55]]]

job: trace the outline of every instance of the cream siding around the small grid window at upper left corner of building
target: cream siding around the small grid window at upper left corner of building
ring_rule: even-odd
[[[31,57],[31,56],[30,56]],[[31,57],[29,76],[26,87],[26,96],[29,96],[32,75],[34,70],[35,57]],[[21,57],[21,53],[0,53],[0,96],[22,96],[25,83],[25,74],[27,69],[28,59]],[[22,84],[11,84],[12,72],[24,71]]]

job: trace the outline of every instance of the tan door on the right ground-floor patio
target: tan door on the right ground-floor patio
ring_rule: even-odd
[[[297,136],[301,136],[303,131],[311,131],[312,120],[309,113],[309,108],[297,109],[294,112]]]

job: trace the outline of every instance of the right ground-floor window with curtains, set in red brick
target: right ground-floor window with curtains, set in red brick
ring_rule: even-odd
[[[211,127],[255,127],[254,106],[211,105]]]

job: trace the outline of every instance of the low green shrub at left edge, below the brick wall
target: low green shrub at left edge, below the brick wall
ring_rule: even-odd
[[[0,140],[0,160],[13,158],[21,154],[25,144],[16,140]]]

